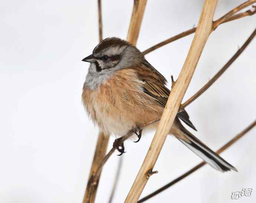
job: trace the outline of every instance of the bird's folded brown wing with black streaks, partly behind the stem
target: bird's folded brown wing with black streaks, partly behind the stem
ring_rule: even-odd
[[[167,99],[170,95],[170,90],[167,87],[165,87],[166,79],[157,70],[155,70],[154,67],[152,67],[150,64],[149,64],[150,66],[148,66],[148,64],[146,67],[140,68],[141,71],[138,79],[142,81],[141,82],[142,91],[145,94],[150,95],[152,99],[155,99],[155,101],[157,101],[159,105],[165,107],[167,103]],[[190,121],[189,115],[187,114],[186,110],[178,112],[177,117],[180,118],[184,123],[186,123],[192,129],[197,131],[195,126]]]

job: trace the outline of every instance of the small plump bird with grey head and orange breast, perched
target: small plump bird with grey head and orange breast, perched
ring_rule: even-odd
[[[140,126],[161,117],[170,95],[165,86],[167,81],[134,45],[117,37],[106,38],[82,61],[91,63],[83,85],[82,101],[100,131],[116,136],[124,136],[131,130],[137,134]],[[196,130],[183,110],[178,112],[170,135],[214,169],[237,171],[191,134],[180,120]],[[151,129],[157,127],[158,124],[154,124]],[[139,139],[140,136],[141,131]]]

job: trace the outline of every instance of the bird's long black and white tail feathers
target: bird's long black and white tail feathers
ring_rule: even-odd
[[[187,131],[187,129],[182,128],[182,132],[190,142],[177,137],[178,140],[181,141],[185,146],[187,146],[187,148],[189,148],[191,151],[196,153],[196,155],[200,156],[205,162],[207,162],[214,169],[219,170],[221,172],[226,172],[229,170],[237,171],[237,169],[234,168],[234,166],[227,163],[223,158],[221,158],[213,150],[207,147],[203,142],[201,142],[189,131]]]

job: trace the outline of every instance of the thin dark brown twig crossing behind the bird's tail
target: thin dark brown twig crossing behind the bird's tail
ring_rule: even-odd
[[[250,131],[254,126],[256,126],[256,120],[252,124],[250,124],[246,129],[244,129],[242,132],[240,132],[238,135],[236,135],[232,140],[230,140],[225,145],[223,145],[219,150],[216,151],[216,153],[219,154],[219,153],[223,152],[225,149],[229,148],[236,141],[238,141],[240,138],[242,138],[248,131]],[[155,192],[152,192],[151,194],[143,197],[142,199],[140,199],[138,201],[138,203],[145,202],[146,200],[150,199],[151,197],[159,194],[160,192],[163,192],[163,190],[166,190],[167,188],[173,186],[175,183],[177,183],[180,180],[184,179],[185,177],[187,177],[191,173],[195,172],[197,169],[200,169],[205,164],[206,164],[206,162],[199,163],[197,166],[195,166],[194,168],[188,170],[186,173],[184,173],[183,175],[177,177],[176,179],[174,179],[170,183],[166,184],[165,186],[161,187],[160,189],[156,190]]]

